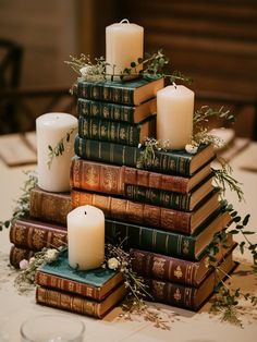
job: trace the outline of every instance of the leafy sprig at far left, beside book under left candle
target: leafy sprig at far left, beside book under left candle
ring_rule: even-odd
[[[21,188],[22,194],[15,201],[15,207],[13,209],[13,213],[10,220],[0,222],[0,231],[3,228],[10,228],[14,220],[24,219],[29,216],[29,194],[30,191],[37,185],[37,174],[35,171],[24,171],[27,179]]]

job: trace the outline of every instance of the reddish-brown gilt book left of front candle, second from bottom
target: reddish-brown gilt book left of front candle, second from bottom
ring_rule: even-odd
[[[66,244],[66,227],[32,219],[17,219],[10,228],[10,242],[16,246],[41,251]]]

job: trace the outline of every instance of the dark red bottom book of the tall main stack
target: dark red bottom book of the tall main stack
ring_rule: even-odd
[[[198,288],[157,279],[146,279],[146,283],[155,301],[196,312],[210,297],[216,285],[235,267],[231,252],[220,264],[219,270],[212,270]]]

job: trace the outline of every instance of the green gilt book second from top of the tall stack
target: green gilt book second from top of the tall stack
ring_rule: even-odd
[[[99,118],[127,123],[138,123],[148,115],[156,113],[156,98],[138,106],[124,106],[88,99],[77,99],[77,114],[85,118]]]

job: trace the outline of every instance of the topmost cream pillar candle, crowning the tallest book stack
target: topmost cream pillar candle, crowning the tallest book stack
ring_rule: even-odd
[[[136,62],[144,54],[144,28],[123,20],[120,23],[106,27],[106,60],[107,73],[120,74],[125,68],[131,68],[131,62]],[[137,69],[139,71],[142,65]]]

